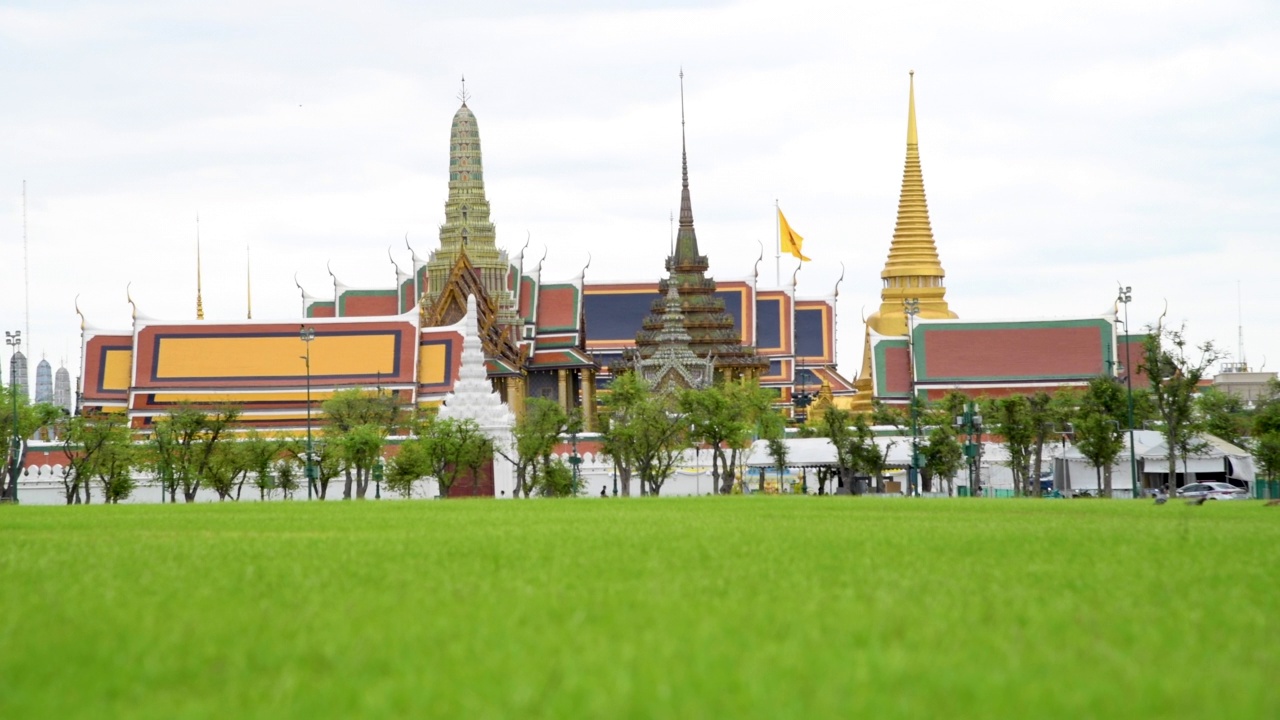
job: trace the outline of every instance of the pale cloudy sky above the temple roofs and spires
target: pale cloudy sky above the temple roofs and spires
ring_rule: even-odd
[[[127,288],[193,319],[197,215],[206,318],[246,315],[250,268],[255,319],[300,316],[294,275],[330,295],[329,263],[390,287],[406,234],[438,245],[462,76],[498,245],[545,250],[544,279],[589,258],[589,282],[657,279],[681,69],[710,274],[750,277],[763,245],[760,286],[791,282],[778,202],[813,259],[799,293],[844,272],[847,377],[913,69],[960,318],[1096,316],[1123,284],[1135,331],[1167,311],[1239,360],[1243,325],[1245,361],[1280,369],[1280,5],[1235,0],[6,0],[0,325],[32,373],[78,377],[77,297],[104,329],[131,327]]]

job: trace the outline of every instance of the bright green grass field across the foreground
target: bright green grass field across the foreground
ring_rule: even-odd
[[[1280,717],[1280,509],[0,507],[0,717]]]

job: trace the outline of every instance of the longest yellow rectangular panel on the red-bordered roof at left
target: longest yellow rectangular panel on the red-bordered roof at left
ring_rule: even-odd
[[[390,375],[396,333],[319,336],[311,341],[312,375]],[[284,337],[163,337],[156,379],[296,378],[306,375],[307,343]]]

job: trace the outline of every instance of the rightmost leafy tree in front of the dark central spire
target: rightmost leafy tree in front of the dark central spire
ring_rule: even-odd
[[[710,447],[717,493],[733,488],[739,454],[751,447],[756,421],[769,405],[769,391],[745,378],[681,392],[680,411],[689,419],[691,442]]]

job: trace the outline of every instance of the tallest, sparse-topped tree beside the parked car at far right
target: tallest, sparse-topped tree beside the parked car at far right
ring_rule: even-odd
[[[1198,427],[1193,398],[1199,382],[1222,357],[1212,341],[1188,346],[1185,325],[1176,331],[1157,325],[1142,341],[1142,372],[1151,380],[1160,432],[1169,448],[1170,492],[1178,487],[1178,455],[1183,456],[1185,466],[1187,456],[1194,451]]]

